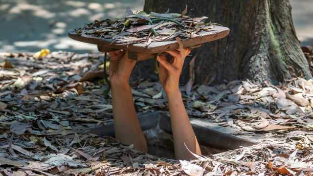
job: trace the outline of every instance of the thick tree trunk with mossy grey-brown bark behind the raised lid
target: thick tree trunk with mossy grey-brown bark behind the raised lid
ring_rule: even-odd
[[[195,83],[209,75],[215,83],[249,79],[278,84],[295,75],[312,78],[308,62],[301,51],[291,18],[289,0],[146,0],[144,11],[181,13],[208,17],[213,23],[230,29],[223,39],[202,44],[192,50],[195,59]],[[180,83],[189,77],[189,62],[184,63]],[[138,62],[142,75],[153,75],[153,60]],[[294,71],[293,71],[294,70]]]

